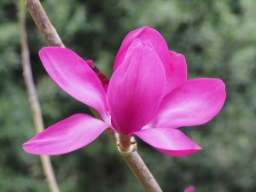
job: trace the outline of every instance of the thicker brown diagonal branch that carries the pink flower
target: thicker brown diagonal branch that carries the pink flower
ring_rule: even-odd
[[[50,46],[64,47],[55,27],[52,26],[48,16],[45,14],[41,3],[38,0],[26,0],[26,9],[29,11],[30,15],[32,15],[32,18],[38,26],[38,29],[43,35],[46,43]],[[97,74],[103,75],[103,73],[101,73],[101,71],[96,67],[94,68],[94,71],[97,71]],[[100,79],[102,79],[102,76]],[[102,83],[104,84],[104,82]],[[92,110],[91,108],[90,110],[96,114],[95,110]],[[113,143],[116,143],[116,139],[112,132],[108,131],[108,136],[111,138]],[[153,175],[148,170],[148,167],[136,151],[122,157],[146,192],[162,192],[159,184],[156,182]]]

